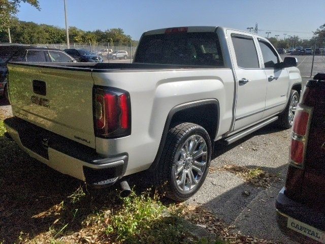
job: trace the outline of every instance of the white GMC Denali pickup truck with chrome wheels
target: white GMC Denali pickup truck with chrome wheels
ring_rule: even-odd
[[[202,186],[213,147],[278,120],[290,128],[297,59],[230,28],[145,32],[133,64],[10,63],[11,137],[33,158],[94,186],[146,177],[168,197]]]

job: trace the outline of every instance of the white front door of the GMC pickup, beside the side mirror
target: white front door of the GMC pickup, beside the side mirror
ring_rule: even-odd
[[[263,60],[262,67],[268,80],[263,115],[263,117],[267,117],[284,109],[288,99],[289,74],[285,68],[275,68],[276,64],[281,62],[281,59],[274,47],[265,39],[258,38],[257,40]]]

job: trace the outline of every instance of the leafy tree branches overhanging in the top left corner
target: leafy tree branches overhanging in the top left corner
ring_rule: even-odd
[[[40,10],[38,0],[0,0],[0,32],[7,31],[12,23],[17,20],[16,14],[21,2],[28,3]]]

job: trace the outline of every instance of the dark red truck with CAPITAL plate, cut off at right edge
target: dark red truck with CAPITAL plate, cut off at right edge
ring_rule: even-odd
[[[276,200],[281,230],[325,243],[325,73],[307,82],[296,108],[285,187]]]

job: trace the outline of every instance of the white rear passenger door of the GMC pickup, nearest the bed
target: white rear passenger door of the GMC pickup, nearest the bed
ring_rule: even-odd
[[[262,119],[267,90],[266,74],[253,35],[227,31],[237,81],[234,130]]]

